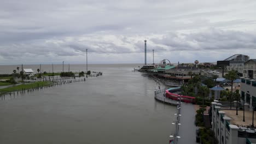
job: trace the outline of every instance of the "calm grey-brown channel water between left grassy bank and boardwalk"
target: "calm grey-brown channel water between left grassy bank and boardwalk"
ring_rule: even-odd
[[[158,85],[133,67],[0,100],[0,143],[168,143],[176,107],[155,101]]]

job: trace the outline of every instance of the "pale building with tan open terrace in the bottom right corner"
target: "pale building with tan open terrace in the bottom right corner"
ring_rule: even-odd
[[[245,108],[247,109],[247,107]],[[236,111],[228,110],[221,102],[214,100],[211,105],[212,129],[220,144],[248,144],[256,143],[256,131],[250,128],[251,113],[246,111],[246,121],[243,122],[242,111],[240,117]],[[253,119],[254,121],[254,119]]]

